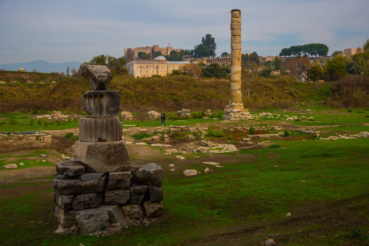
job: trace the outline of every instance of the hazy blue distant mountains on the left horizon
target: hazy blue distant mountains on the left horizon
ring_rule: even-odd
[[[44,60],[33,60],[32,62],[24,62],[24,63],[11,63],[11,64],[0,64],[0,69],[8,70],[8,71],[18,71],[20,68],[24,68],[25,71],[32,72],[33,69],[36,69],[37,72],[41,73],[52,73],[52,72],[66,72],[67,67],[72,69],[81,65],[82,62],[63,62],[63,63],[51,63],[45,62]]]

